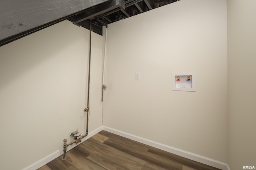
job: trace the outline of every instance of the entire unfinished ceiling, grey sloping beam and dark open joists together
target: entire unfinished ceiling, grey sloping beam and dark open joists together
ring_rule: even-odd
[[[102,35],[102,26],[178,0],[1,0],[0,46],[63,20]]]

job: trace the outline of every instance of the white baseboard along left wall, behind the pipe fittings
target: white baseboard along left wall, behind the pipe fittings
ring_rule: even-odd
[[[86,141],[87,139],[89,139],[90,137],[99,133],[102,130],[103,130],[103,126],[99,127],[98,129],[95,129],[94,131],[92,131],[90,133],[88,133],[88,135],[82,139],[82,142]],[[79,144],[80,143],[78,143],[77,145],[79,145]],[[73,149],[77,145],[68,146],[67,151],[70,150],[70,149]],[[40,168],[41,166],[44,166],[48,162],[54,160],[55,158],[57,158],[58,156],[60,156],[62,154],[63,154],[63,148],[61,148],[59,150],[56,150],[55,152],[52,152],[51,154],[45,156],[44,158],[42,158],[42,159],[38,160],[37,162],[31,164],[30,166],[27,166],[26,168],[23,168],[22,170],[36,170],[36,169]]]

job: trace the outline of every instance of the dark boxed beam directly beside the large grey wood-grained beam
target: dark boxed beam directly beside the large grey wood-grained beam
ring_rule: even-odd
[[[93,6],[91,8],[88,8],[83,13],[74,16],[72,19],[70,19],[70,21],[74,23],[80,23],[82,21],[94,18],[95,16],[109,12],[115,8],[124,9],[124,0],[109,0],[102,4]]]

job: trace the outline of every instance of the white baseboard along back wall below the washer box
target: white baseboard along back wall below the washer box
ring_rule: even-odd
[[[113,129],[113,128],[110,128],[110,127],[103,126],[103,130],[114,133],[114,134],[122,136],[122,137],[126,137],[128,139],[132,139],[132,140],[140,142],[140,143],[144,143],[146,145],[164,150],[166,152],[170,152],[170,153],[182,156],[184,158],[194,160],[196,162],[200,162],[202,164],[206,164],[206,165],[209,165],[209,166],[213,166],[215,168],[219,168],[221,170],[230,170],[229,167],[228,167],[228,164],[226,164],[224,162],[220,162],[218,160],[214,160],[214,159],[211,159],[211,158],[207,158],[205,156],[201,156],[201,155],[198,155],[198,154],[187,152],[185,150],[177,149],[177,148],[174,148],[174,147],[170,147],[168,145],[164,145],[164,144],[161,144],[161,143],[150,141],[148,139],[144,139],[142,137],[131,135],[129,133],[119,131],[117,129]]]

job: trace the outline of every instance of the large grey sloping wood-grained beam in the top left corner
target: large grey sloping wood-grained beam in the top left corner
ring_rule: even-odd
[[[108,0],[0,0],[0,46]]]

